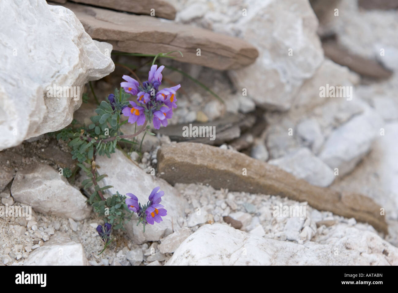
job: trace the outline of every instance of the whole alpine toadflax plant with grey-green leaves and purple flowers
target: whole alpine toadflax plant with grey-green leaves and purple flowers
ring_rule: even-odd
[[[164,195],[163,191],[159,191],[160,187],[152,190],[146,205],[141,205],[133,193],[121,195],[116,191],[116,194],[106,197],[105,191],[113,186],[100,185],[100,181],[107,175],[98,173],[96,157],[106,155],[111,158],[111,154],[115,153],[116,148],[121,151],[123,148],[130,149],[132,152],[134,146],[136,147],[135,151],[141,153],[145,134],[155,135],[149,131],[150,126],[146,124],[152,121],[156,129],[159,129],[160,125],[168,125],[167,120],[172,118],[173,109],[177,107],[176,91],[181,85],[159,89],[162,85],[164,66],[158,67],[154,63],[157,57],[167,57],[173,52],[159,53],[154,56],[148,80],[142,84],[128,75],[123,75],[124,81],[120,84],[120,90],[115,89],[114,93],[109,94],[101,102],[96,97],[90,83],[93,96],[98,104],[95,110],[96,115],[90,117],[90,124],[73,120],[70,127],[57,132],[57,140],[68,142],[72,159],[78,161],[74,171],[65,170],[65,177],[73,182],[80,169],[86,173],[88,178],[82,181],[82,188],[88,195],[88,202],[105,222],[103,226],[99,225],[96,228],[104,242],[104,248],[100,254],[115,239],[111,239],[111,234],[119,229],[125,230],[124,225],[131,221],[131,216],[134,213],[137,213],[139,218],[137,226],[142,223],[144,232],[146,224],[160,223],[163,220],[162,217],[167,215],[167,210],[160,204],[161,197]],[[179,53],[181,54],[181,52]],[[134,71],[132,73],[135,75]],[[137,77],[137,79],[139,78]],[[135,97],[131,98],[131,95]],[[86,93],[83,94],[83,100],[88,100]],[[122,120],[123,116],[128,119]],[[121,131],[121,126],[125,123],[141,127],[134,134],[124,134]],[[141,144],[138,144],[136,139],[142,132],[144,135]],[[131,147],[126,147],[126,144]]]

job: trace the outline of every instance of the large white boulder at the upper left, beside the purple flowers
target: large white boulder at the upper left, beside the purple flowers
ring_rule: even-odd
[[[68,125],[82,104],[84,84],[115,65],[109,48],[101,51],[67,8],[5,0],[0,11],[2,150]]]

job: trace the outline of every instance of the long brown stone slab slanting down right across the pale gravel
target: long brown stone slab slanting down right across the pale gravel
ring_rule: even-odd
[[[388,233],[380,206],[369,197],[311,185],[276,166],[237,151],[181,142],[163,145],[157,159],[158,174],[171,184],[203,183],[215,189],[280,195],[306,201],[318,210],[368,222],[375,229]],[[247,175],[243,175],[244,168]]]

